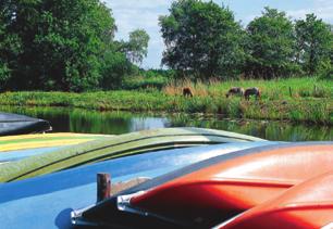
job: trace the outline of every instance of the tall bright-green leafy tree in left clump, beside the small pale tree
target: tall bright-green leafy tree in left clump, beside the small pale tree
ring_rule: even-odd
[[[40,50],[39,80],[60,90],[98,87],[114,20],[98,0],[45,0],[34,50]],[[54,85],[55,84],[55,85]]]

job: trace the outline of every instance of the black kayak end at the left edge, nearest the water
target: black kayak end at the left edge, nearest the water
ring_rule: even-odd
[[[45,132],[50,129],[47,120],[0,112],[0,136]]]

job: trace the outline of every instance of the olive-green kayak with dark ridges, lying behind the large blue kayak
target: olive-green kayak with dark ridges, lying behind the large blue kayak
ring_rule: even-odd
[[[131,132],[0,165],[0,182],[26,179],[84,164],[158,150],[252,141],[266,140],[201,128],[166,128]]]

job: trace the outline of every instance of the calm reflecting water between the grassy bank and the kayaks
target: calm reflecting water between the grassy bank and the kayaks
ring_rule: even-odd
[[[63,107],[1,106],[1,112],[24,114],[49,120],[53,132],[120,135],[163,127],[202,127],[234,131],[268,140],[333,140],[329,126],[295,125],[287,122],[227,119],[218,115],[143,114],[99,112]]]

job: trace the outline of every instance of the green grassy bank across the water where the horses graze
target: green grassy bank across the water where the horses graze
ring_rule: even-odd
[[[260,101],[225,98],[231,87],[259,87]],[[189,87],[194,98],[182,97]],[[313,78],[284,80],[211,81],[209,84],[169,82],[161,90],[147,86],[140,90],[107,92],[5,92],[2,105],[70,106],[102,111],[219,113],[226,117],[287,119],[316,124],[333,124],[333,86]]]

